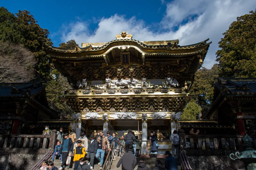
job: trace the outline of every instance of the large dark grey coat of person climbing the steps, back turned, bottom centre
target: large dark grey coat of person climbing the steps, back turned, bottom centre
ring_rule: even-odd
[[[132,151],[128,151],[121,157],[116,167],[119,168],[119,166],[122,164],[122,170],[132,170],[135,168],[136,163],[137,159],[135,155],[132,153]]]

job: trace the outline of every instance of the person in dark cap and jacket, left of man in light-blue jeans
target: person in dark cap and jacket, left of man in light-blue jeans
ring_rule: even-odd
[[[95,140],[95,136],[94,134],[91,134],[90,136],[90,142],[89,142],[89,146],[88,146],[88,153],[87,153],[87,159],[89,161],[88,162],[88,165],[91,165],[91,169],[93,169],[94,167],[94,156],[96,155],[97,153],[97,149],[98,149],[98,142],[97,140]]]

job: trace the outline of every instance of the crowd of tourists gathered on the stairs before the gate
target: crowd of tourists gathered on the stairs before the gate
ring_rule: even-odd
[[[52,132],[49,129],[49,126],[46,126],[42,135],[51,135],[51,133]],[[97,133],[96,131],[94,131],[94,133],[90,134],[88,140],[85,133],[81,131],[80,137],[77,140],[74,129],[72,129],[70,133],[64,133],[63,129],[60,128],[59,131],[57,131],[57,143],[54,153],[52,155],[52,160],[49,162],[47,160],[44,160],[40,169],[57,170],[57,167],[55,167],[53,163],[55,156],[59,156],[61,159],[61,161],[59,162],[61,164],[59,170],[63,168],[68,168],[67,162],[70,161],[68,160],[68,157],[71,157],[71,153],[73,152],[74,170],[93,169],[94,157],[98,159],[98,165],[100,166],[100,169],[102,169],[105,152],[111,151],[110,146],[113,142],[115,150],[118,150],[120,152],[126,152],[121,157],[116,166],[119,167],[122,164],[122,169],[134,169],[137,162],[136,157],[140,156],[139,151],[141,149],[141,141],[138,139],[138,136],[135,136],[135,133],[131,129],[128,129],[127,134],[122,135],[121,137],[118,137],[118,134],[116,132],[111,135],[110,131],[107,131],[106,134],[107,136],[104,136],[103,130],[98,130]],[[149,139],[151,146],[151,157],[157,157],[159,144],[157,141],[156,131],[150,132]],[[174,132],[172,133],[170,140],[172,141],[172,153],[170,153],[170,151],[166,151],[165,153],[165,168],[161,161],[156,160],[154,170],[177,169],[177,161],[175,157],[178,157],[179,136],[176,130],[174,130]],[[76,147],[74,149],[75,142]],[[88,160],[88,163],[85,162],[86,160]],[[146,166],[145,160],[140,160],[137,169],[149,170],[149,168]]]

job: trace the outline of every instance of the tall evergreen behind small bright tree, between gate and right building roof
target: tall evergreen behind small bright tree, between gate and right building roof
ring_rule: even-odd
[[[189,91],[190,96],[202,108],[207,110],[213,101],[215,77],[218,77],[218,66],[211,69],[202,67],[195,74],[194,83]]]

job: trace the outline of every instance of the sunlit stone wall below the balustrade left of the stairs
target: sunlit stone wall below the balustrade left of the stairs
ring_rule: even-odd
[[[49,150],[0,148],[0,170],[31,169]]]

